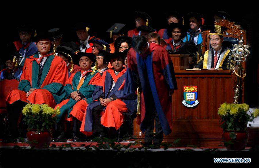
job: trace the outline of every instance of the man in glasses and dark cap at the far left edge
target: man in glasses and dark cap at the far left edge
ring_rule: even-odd
[[[17,52],[7,51],[5,53],[3,61],[5,61],[7,68],[0,71],[0,80],[8,77],[14,77],[20,80],[22,75],[22,68],[18,65],[19,58],[21,58],[21,54]]]

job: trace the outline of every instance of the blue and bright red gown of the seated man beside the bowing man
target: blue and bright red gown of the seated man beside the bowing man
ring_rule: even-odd
[[[92,109],[100,105],[100,101],[98,101],[100,97],[112,97],[114,100],[108,103],[108,105],[103,109],[100,121],[103,126],[115,127],[115,129],[119,129],[122,124],[121,112],[128,111],[130,114],[133,114],[135,110],[134,107],[136,107],[134,104],[137,103],[137,100],[136,95],[133,95],[133,97],[126,97],[127,95],[123,94],[126,75],[125,72],[126,68],[122,69],[122,71],[117,76],[115,75],[113,68],[103,72],[102,78],[94,90],[92,97],[93,101],[87,106],[80,132],[87,136],[92,134]],[[113,81],[115,82],[115,85],[113,90],[109,93]]]

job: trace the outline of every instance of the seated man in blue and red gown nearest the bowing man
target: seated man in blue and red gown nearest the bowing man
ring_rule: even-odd
[[[122,112],[133,114],[136,106],[136,96],[129,100],[123,95],[126,68],[123,66],[127,50],[109,53],[105,60],[112,68],[104,71],[100,83],[93,94],[93,102],[87,106],[80,132],[100,138],[107,135],[107,128],[116,130],[122,125]],[[108,58],[107,58],[108,57]]]

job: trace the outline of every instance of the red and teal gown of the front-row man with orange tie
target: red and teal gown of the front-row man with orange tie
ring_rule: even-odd
[[[60,104],[56,105],[56,107],[60,107],[60,115],[58,116],[57,122],[60,121],[63,114],[68,114],[67,118],[69,121],[72,121],[71,116],[77,118],[79,121],[83,120],[83,116],[85,113],[85,109],[87,105],[92,102],[92,95],[94,93],[94,89],[96,84],[99,82],[101,75],[98,71],[95,71],[93,75],[91,75],[92,70],[90,71],[80,71],[76,73],[72,73],[70,78],[68,78],[65,86],[66,96],[68,97],[72,92],[77,91],[77,86],[79,84],[80,76],[85,77],[85,80],[82,86],[79,88],[79,92],[84,96],[80,101],[75,101],[72,98],[66,99],[62,101]],[[82,77],[82,78],[83,78]],[[55,108],[56,108],[55,107]]]

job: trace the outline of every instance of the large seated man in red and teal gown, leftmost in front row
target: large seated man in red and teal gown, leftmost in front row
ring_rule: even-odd
[[[27,103],[47,104],[54,108],[65,98],[66,63],[49,52],[52,36],[38,33],[33,39],[39,53],[26,58],[18,89],[6,99],[11,138],[17,140],[17,123]]]

